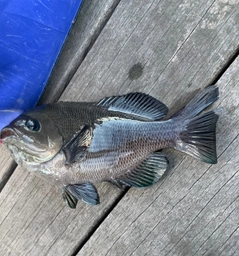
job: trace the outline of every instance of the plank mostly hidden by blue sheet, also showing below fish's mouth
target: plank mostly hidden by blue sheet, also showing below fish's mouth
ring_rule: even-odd
[[[119,0],[83,1],[77,19],[57,60],[39,104],[59,98]],[[0,146],[0,191],[16,168],[4,146]]]

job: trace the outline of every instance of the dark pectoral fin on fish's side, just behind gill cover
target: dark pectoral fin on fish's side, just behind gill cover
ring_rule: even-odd
[[[62,149],[66,156],[65,164],[80,161],[92,139],[92,128],[84,126]]]

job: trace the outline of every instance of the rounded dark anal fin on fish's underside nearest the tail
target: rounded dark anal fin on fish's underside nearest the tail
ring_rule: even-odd
[[[161,152],[154,152],[134,170],[117,179],[120,183],[137,188],[156,183],[165,173],[168,160]]]

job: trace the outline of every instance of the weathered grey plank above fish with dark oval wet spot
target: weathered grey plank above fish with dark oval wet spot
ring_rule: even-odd
[[[62,99],[98,100],[143,90],[169,105],[185,95],[185,85],[193,90],[211,83],[233,55],[237,15],[235,5],[219,0],[121,1]],[[136,64],[142,72],[132,78]]]

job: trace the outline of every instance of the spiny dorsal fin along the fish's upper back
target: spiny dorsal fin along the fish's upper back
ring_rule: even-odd
[[[131,114],[153,121],[162,119],[168,113],[168,108],[162,102],[141,92],[107,97],[97,105],[106,107],[110,111]]]

